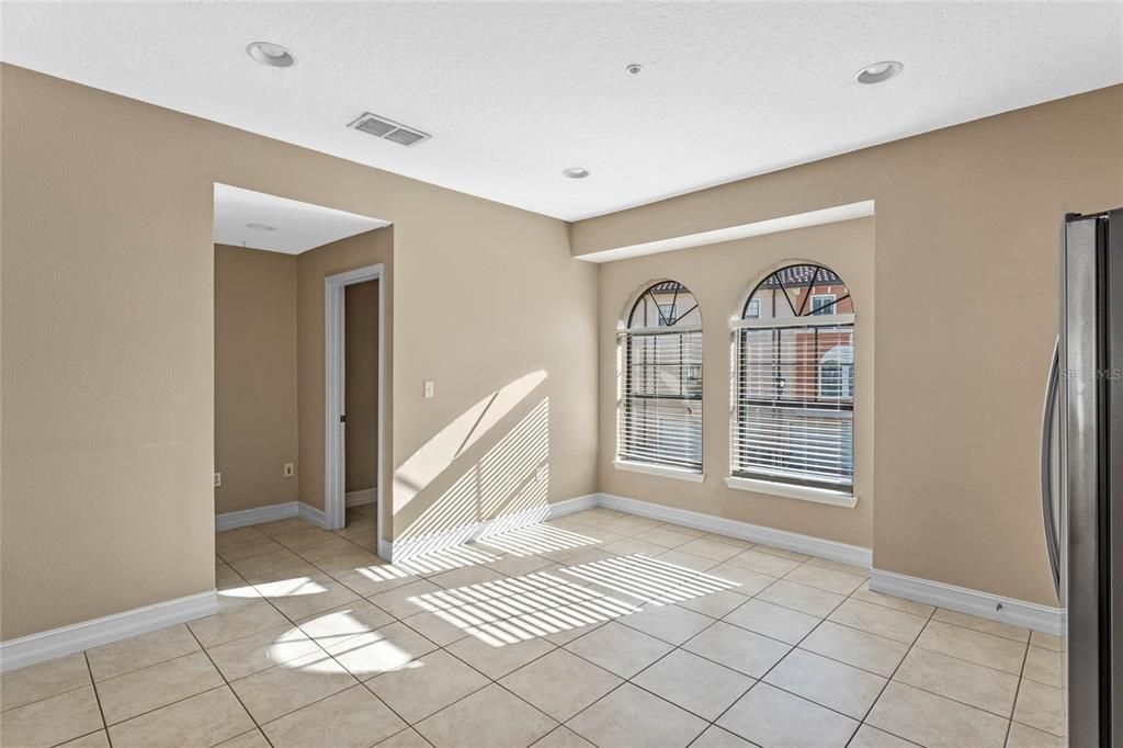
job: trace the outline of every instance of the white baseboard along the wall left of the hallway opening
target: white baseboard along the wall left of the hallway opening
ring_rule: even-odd
[[[213,615],[217,612],[218,593],[211,590],[95,618],[92,621],[40,631],[19,639],[0,641],[0,672],[100,647],[204,615]]]

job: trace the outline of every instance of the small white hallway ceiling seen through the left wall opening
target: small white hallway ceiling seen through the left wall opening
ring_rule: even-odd
[[[274,230],[252,229],[264,224]],[[338,241],[386,226],[386,221],[299,200],[214,185],[214,241],[235,247],[268,249],[286,255]]]

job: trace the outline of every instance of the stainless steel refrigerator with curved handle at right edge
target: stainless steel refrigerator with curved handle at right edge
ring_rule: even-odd
[[[1123,209],[1065,217],[1041,494],[1072,748],[1123,746]]]

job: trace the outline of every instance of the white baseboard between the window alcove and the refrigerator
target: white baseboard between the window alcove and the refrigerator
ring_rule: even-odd
[[[1054,637],[1061,636],[1065,628],[1065,611],[1060,608],[1049,608],[1024,600],[1003,598],[989,592],[957,587],[953,584],[932,582],[895,572],[873,569],[869,577],[869,589],[960,613],[978,615],[992,621],[1051,633]]]

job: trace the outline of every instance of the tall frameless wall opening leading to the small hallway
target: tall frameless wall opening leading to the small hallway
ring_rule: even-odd
[[[363,550],[386,549],[378,507],[392,253],[389,221],[214,185],[217,531],[312,524]]]

